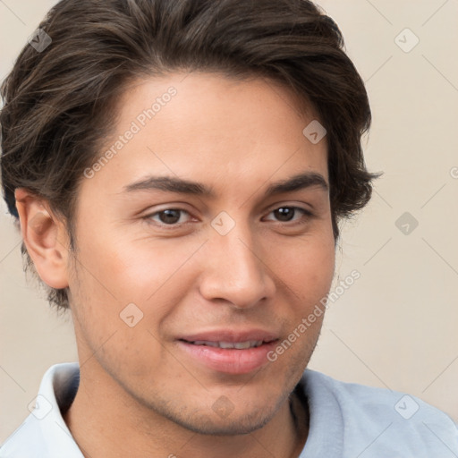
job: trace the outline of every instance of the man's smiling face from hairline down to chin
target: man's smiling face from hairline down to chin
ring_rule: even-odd
[[[335,265],[326,138],[310,142],[312,112],[261,79],[137,81],[119,106],[75,215],[81,379],[194,431],[248,433],[318,339],[322,314],[307,318]]]

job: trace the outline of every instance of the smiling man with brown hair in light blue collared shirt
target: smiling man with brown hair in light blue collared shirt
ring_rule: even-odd
[[[364,85],[303,0],[64,0],[4,81],[4,198],[69,309],[0,456],[454,456],[444,413],[306,370],[338,222],[369,201]]]

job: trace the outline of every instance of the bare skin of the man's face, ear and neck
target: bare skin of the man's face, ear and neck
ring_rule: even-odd
[[[311,186],[264,196],[270,183],[301,172],[328,182],[326,138],[314,145],[303,136],[316,117],[311,109],[300,114],[289,89],[272,81],[184,76],[136,81],[124,93],[114,139],[149,100],[177,89],[82,180],[74,259],[64,222],[47,202],[16,191],[38,275],[70,288],[81,384],[64,420],[92,458],[298,456],[308,412],[295,428],[288,399],[323,316],[276,361],[248,374],[208,369],[176,337],[261,327],[283,341],[326,296],[335,267],[328,192]],[[123,191],[148,174],[202,182],[216,196]],[[284,207],[313,216],[297,210],[284,221],[274,212]],[[185,210],[173,229],[157,213],[166,208]],[[210,225],[221,211],[235,223],[225,235]],[[143,318],[129,327],[120,312],[132,302]],[[212,409],[221,396],[233,406],[224,417]]]

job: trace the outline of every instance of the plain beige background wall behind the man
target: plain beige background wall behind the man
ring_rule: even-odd
[[[2,80],[54,3],[0,1]],[[344,225],[337,272],[344,279],[357,269],[360,279],[327,311],[310,368],[418,395],[458,420],[458,1],[319,4],[367,81],[367,163],[385,175],[369,207]],[[409,53],[394,41],[406,28],[420,39]],[[412,38],[398,39],[407,47]],[[419,222],[407,235],[395,225],[404,212]],[[29,413],[45,370],[76,360],[76,351],[71,319],[24,280],[4,205],[0,239],[3,441]]]

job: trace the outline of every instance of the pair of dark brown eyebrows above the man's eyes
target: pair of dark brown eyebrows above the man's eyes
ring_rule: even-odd
[[[267,187],[265,197],[271,197],[283,192],[299,191],[306,188],[316,187],[322,191],[329,191],[329,186],[322,174],[305,172],[296,174],[290,178],[273,182]],[[213,187],[208,187],[201,182],[191,182],[172,176],[148,176],[138,182],[132,182],[124,187],[123,191],[166,191],[179,194],[190,194],[208,198],[215,198]]]

